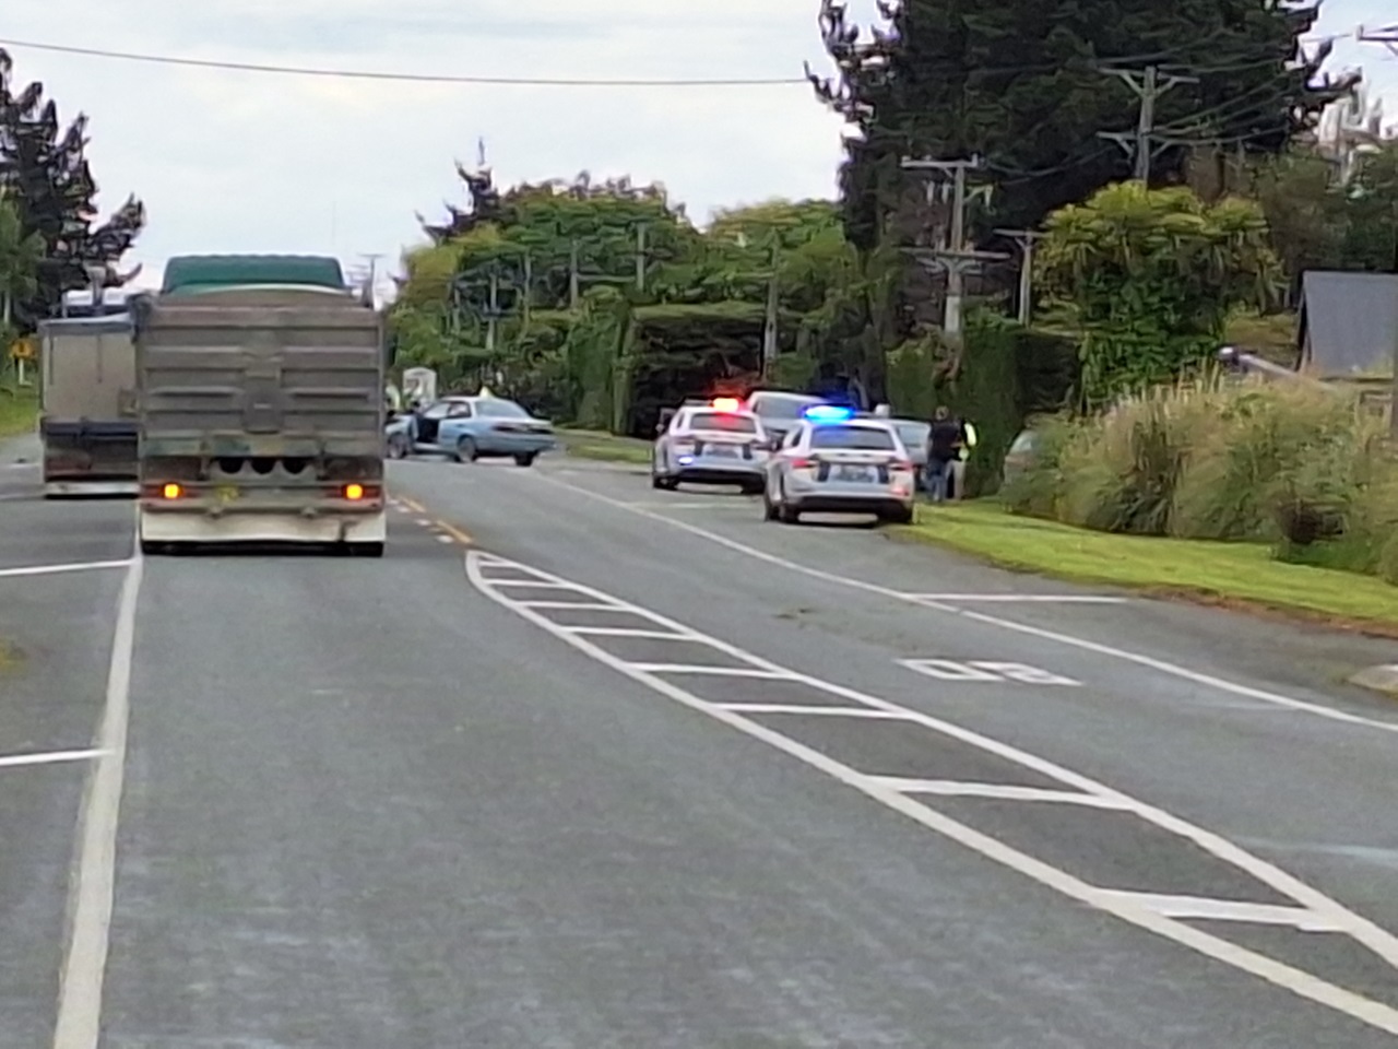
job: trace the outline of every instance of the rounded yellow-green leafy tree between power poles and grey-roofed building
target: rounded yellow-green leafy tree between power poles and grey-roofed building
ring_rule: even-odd
[[[1281,269],[1261,208],[1124,182],[1050,215],[1039,253],[1050,294],[1082,330],[1082,394],[1103,404],[1213,359],[1229,312],[1275,297]]]

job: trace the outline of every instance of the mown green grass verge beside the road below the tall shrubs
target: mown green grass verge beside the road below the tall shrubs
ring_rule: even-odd
[[[1261,544],[1113,536],[1007,513],[991,501],[918,506],[917,523],[905,534],[1021,572],[1398,636],[1398,587],[1352,572],[1282,564]]]

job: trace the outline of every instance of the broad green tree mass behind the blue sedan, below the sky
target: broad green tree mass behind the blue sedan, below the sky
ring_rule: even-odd
[[[583,173],[498,190],[488,172],[459,173],[471,201],[422,222],[428,242],[404,256],[390,312],[397,359],[449,383],[489,378],[565,415],[636,420],[705,376],[758,366],[773,280],[780,344],[807,361],[783,373],[821,372],[821,355],[842,350],[828,331],[856,327],[846,301],[860,294],[860,260],[830,201],[730,208],[699,229],[658,185]],[[625,344],[629,386],[597,358],[603,343]],[[584,389],[598,382],[601,400]]]

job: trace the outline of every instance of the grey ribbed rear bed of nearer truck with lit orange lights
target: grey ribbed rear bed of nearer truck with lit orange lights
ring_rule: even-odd
[[[383,543],[383,336],[341,291],[133,304],[143,541]],[[172,487],[173,485],[173,487]]]

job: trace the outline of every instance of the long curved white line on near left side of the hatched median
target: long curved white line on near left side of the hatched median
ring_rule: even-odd
[[[521,615],[535,627],[552,634],[563,643],[572,645],[579,652],[596,659],[598,663],[604,663],[617,673],[629,677],[630,680],[637,681],[639,684],[660,692],[670,699],[674,699],[682,706],[709,715],[710,718],[723,722],[738,732],[762,740],[770,747],[797,758],[821,772],[825,772],[846,786],[860,790],[868,797],[872,797],[875,801],[879,801],[888,808],[914,820],[928,829],[979,852],[987,859],[1009,867],[1011,870],[1030,877],[1048,888],[1057,890],[1069,898],[1078,899],[1099,911],[1116,915],[1124,922],[1130,922],[1134,926],[1158,933],[1165,939],[1190,947],[1209,958],[1215,958],[1216,961],[1222,961],[1244,972],[1250,972],[1254,976],[1260,976],[1261,979],[1285,987],[1300,997],[1318,1001],[1320,1004],[1362,1020],[1381,1031],[1398,1035],[1398,1010],[1390,1006],[1373,1001],[1371,999],[1366,999],[1362,994],[1345,990],[1343,987],[1338,987],[1313,976],[1311,973],[1303,972],[1283,962],[1278,962],[1272,958],[1257,954],[1255,951],[1250,951],[1246,947],[1239,947],[1234,943],[1229,943],[1227,940],[1222,940],[1172,918],[1162,916],[1149,908],[1141,906],[1134,899],[1121,898],[1099,890],[1095,885],[1089,885],[1067,871],[1051,867],[1047,863],[1004,845],[1002,842],[995,841],[972,827],[918,804],[906,794],[881,787],[877,782],[872,782],[868,776],[850,768],[849,765],[843,765],[816,750],[787,738],[786,736],[758,725],[756,722],[751,722],[733,711],[719,709],[713,704],[706,702],[663,678],[636,670],[632,664],[618,659],[605,649],[601,649],[583,638],[565,634],[547,617],[512,601],[500,593],[496,593],[477,571],[477,565],[473,561],[473,552],[474,551],[468,551],[466,555],[466,572],[473,586],[475,586],[489,600],[516,613],[517,615]],[[1338,908],[1338,905],[1335,906]],[[1341,908],[1341,911],[1343,909]],[[1353,918],[1363,922],[1363,919],[1359,919],[1357,915]]]

